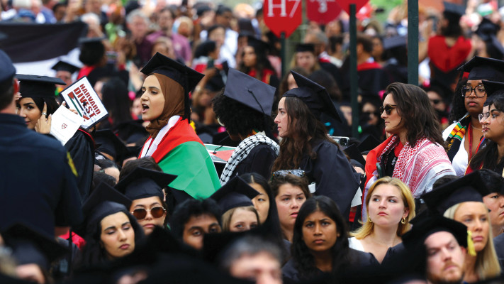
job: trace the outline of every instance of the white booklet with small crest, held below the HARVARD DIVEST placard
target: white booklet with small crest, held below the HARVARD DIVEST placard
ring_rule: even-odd
[[[81,116],[61,106],[51,115],[50,134],[65,145],[74,136],[83,121],[84,119]]]

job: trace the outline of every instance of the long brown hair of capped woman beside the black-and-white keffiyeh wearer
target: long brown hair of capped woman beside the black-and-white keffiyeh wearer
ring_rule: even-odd
[[[285,107],[289,117],[288,136],[280,142],[280,154],[273,163],[273,171],[299,168],[306,153],[311,159],[317,158],[317,153],[312,151],[310,145],[311,139],[326,140],[337,145],[301,99],[285,97]]]

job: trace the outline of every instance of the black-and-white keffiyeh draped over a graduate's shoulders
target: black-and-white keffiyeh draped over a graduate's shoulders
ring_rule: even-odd
[[[233,175],[233,172],[235,171],[236,166],[245,158],[247,158],[247,155],[249,155],[250,151],[252,151],[252,148],[259,144],[266,144],[271,147],[275,151],[276,155],[279,155],[280,153],[280,147],[279,145],[271,140],[268,136],[264,136],[262,134],[255,134],[252,136],[249,136],[245,138],[243,141],[238,144],[238,146],[235,149],[235,152],[233,152],[233,155],[231,155],[231,158],[228,160],[228,163],[225,164],[224,170],[222,175],[220,175],[220,184],[225,185],[226,182],[230,179],[231,175]]]

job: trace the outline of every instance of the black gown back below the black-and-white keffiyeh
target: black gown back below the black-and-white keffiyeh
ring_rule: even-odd
[[[265,144],[254,146],[247,158],[243,159],[233,171],[232,177],[244,173],[258,173],[266,180],[271,177],[271,167],[276,159],[276,154],[271,147]]]

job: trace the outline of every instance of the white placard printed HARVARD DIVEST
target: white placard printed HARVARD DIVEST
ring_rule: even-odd
[[[103,107],[98,94],[94,92],[85,76],[62,90],[60,94],[67,102],[67,106],[70,109],[76,109],[79,116],[84,118],[82,122],[84,129],[90,129],[91,126],[98,124],[108,116],[108,112]]]

